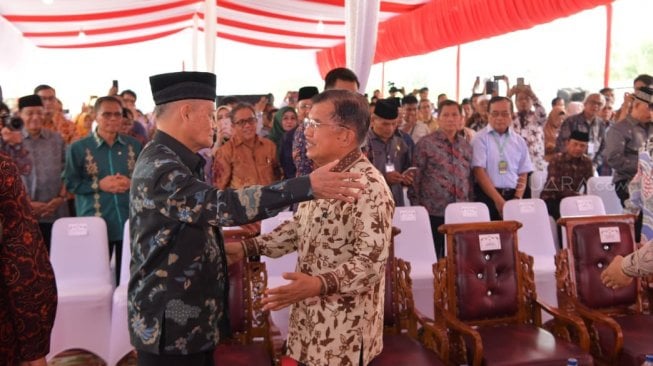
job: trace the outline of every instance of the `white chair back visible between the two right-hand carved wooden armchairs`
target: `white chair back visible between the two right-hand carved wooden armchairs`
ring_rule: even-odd
[[[555,256],[555,242],[544,201],[539,198],[507,201],[503,206],[503,219],[522,223],[517,231],[520,251],[532,256]]]

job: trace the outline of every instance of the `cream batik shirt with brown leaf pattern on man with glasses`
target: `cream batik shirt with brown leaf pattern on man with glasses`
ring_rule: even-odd
[[[360,152],[336,171],[360,172],[355,203],[304,202],[272,233],[245,241],[247,255],[297,251],[297,272],[317,276],[322,294],[292,305],[288,355],[311,366],[367,365],[383,348],[385,267],[394,204],[383,176]]]

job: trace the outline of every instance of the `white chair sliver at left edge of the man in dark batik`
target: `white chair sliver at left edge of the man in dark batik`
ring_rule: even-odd
[[[107,360],[108,366],[117,365],[118,361],[134,349],[129,341],[129,323],[127,315],[127,286],[129,285],[129,262],[131,260],[130,243],[129,220],[127,220],[123,230],[120,283],[113,292],[109,359]]]

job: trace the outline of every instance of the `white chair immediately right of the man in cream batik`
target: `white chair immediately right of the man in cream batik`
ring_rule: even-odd
[[[423,206],[395,207],[392,225],[401,233],[395,236],[395,257],[410,262],[415,306],[433,317],[433,263],[437,262],[429,214]]]

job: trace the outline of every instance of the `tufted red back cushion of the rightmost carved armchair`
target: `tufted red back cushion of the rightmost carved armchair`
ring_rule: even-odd
[[[621,241],[601,242],[601,228],[618,228]],[[623,222],[592,223],[574,228],[573,255],[576,286],[579,300],[589,308],[633,304],[637,299],[637,284],[613,290],[601,282],[601,272],[617,255],[633,252],[634,242],[631,228]]]

